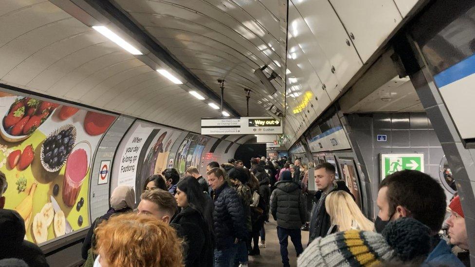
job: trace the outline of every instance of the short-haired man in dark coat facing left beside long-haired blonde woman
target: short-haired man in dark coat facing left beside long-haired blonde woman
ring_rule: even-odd
[[[343,190],[353,196],[344,181],[335,181],[335,167],[328,162],[315,166],[315,194],[310,220],[309,244],[317,237],[325,237],[330,228],[330,215],[325,209],[325,199],[333,191]],[[353,196],[354,199],[354,196]]]

